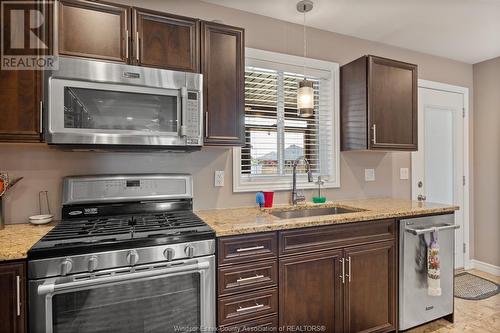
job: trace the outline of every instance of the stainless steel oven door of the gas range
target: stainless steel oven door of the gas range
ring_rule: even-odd
[[[98,272],[68,282],[31,281],[30,332],[211,331],[214,267],[210,256],[167,267],[138,266],[135,272]]]

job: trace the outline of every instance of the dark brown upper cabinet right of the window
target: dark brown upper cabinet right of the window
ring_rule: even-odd
[[[340,69],[342,150],[417,150],[417,65],[363,56]]]

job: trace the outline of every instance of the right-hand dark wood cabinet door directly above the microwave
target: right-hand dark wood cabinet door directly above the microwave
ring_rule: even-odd
[[[139,65],[197,72],[199,21],[135,8],[134,55]]]

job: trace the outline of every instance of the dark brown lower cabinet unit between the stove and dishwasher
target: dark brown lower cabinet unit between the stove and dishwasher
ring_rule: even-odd
[[[396,226],[386,219],[220,238],[218,325],[257,332],[395,331]],[[252,255],[236,260],[242,251]]]

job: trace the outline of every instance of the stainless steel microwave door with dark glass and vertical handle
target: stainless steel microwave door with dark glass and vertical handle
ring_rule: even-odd
[[[184,146],[187,89],[51,78],[47,141]]]

